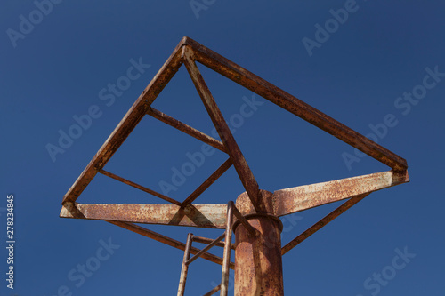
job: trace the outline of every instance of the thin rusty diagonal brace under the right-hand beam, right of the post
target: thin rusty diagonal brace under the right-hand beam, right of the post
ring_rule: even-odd
[[[353,196],[351,199],[346,201],[344,204],[342,204],[338,208],[336,208],[336,210],[334,210],[333,212],[330,212],[326,217],[324,217],[323,219],[321,219],[320,221],[318,221],[317,223],[312,225],[311,228],[308,228],[306,231],[304,231],[300,236],[296,236],[292,241],[290,241],[284,247],[282,247],[281,255],[284,255],[287,252],[289,252],[290,250],[292,250],[296,245],[302,243],[303,240],[305,240],[309,236],[312,236],[315,232],[317,232],[321,228],[325,227],[330,221],[336,219],[336,217],[340,216],[343,212],[345,212],[346,210],[351,208],[352,205],[357,204],[358,202],[360,202],[360,200],[362,200],[363,198],[365,198],[368,195],[369,195],[369,193],[363,194],[360,196]]]

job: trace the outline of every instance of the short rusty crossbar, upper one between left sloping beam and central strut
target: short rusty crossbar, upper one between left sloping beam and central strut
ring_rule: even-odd
[[[216,140],[209,135],[206,135],[206,133],[200,132],[197,129],[191,127],[190,125],[183,124],[181,121],[174,119],[174,117],[167,116],[165,113],[162,113],[161,111],[151,107],[147,110],[147,114],[152,116],[153,118],[162,121],[165,124],[173,126],[175,129],[178,129],[181,132],[187,133],[195,139],[201,140],[206,144],[217,148],[220,151],[223,151],[224,153],[226,152],[224,144],[220,140]]]

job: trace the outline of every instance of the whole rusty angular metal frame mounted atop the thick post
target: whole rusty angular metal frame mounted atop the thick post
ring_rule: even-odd
[[[299,116],[310,124],[319,127],[321,130],[328,132],[337,139],[343,140],[353,148],[357,148],[368,156],[375,158],[377,161],[388,165],[391,168],[391,171],[377,172],[364,176],[346,178],[344,180],[305,185],[297,188],[280,189],[275,191],[271,196],[273,204],[273,207],[271,208],[269,205],[266,205],[269,202],[263,200],[255,176],[242,155],[237,142],[233,138],[196,63],[200,63],[207,68],[213,69],[220,75],[231,79],[233,82],[240,84],[252,92],[255,92],[264,99],[270,100],[272,103],[286,109],[295,116]],[[178,69],[182,67],[182,64],[184,64],[187,69],[221,140],[216,140],[213,137],[206,135],[206,133],[200,132],[190,125],[184,124],[151,107],[153,101],[157,99],[158,94],[162,92],[166,84],[170,82]],[[185,132],[195,139],[201,140],[229,156],[228,160],[226,160],[182,202],[104,170],[105,164],[108,163],[109,159],[122,145],[128,135],[133,132],[136,125],[142,120],[142,117],[146,115],[171,125],[179,131]],[[408,164],[401,156],[397,156],[390,150],[378,145],[376,142],[368,140],[368,138],[361,135],[359,132],[353,131],[351,128],[322,113],[320,110],[312,108],[302,100],[279,89],[277,86],[265,81],[263,78],[255,76],[255,74],[249,72],[247,69],[240,67],[231,60],[227,60],[220,54],[213,52],[189,37],[184,36],[181,42],[174,48],[174,52],[172,52],[162,68],[159,69],[156,76],[151,80],[150,84],[134,102],[132,108],[128,110],[109,138],[101,146],[96,155],[93,156],[91,162],[87,164],[85,170],[80,174],[71,188],[69,188],[62,200],[61,217],[106,220],[109,223],[134,231],[142,236],[147,236],[164,244],[169,244],[178,249],[186,250],[188,244],[183,244],[167,236],[162,236],[149,229],[142,228],[134,224],[134,222],[228,229],[233,218],[232,214],[227,216],[227,213],[224,212],[225,204],[192,203],[206,190],[206,188],[211,186],[215,180],[221,177],[231,165],[234,166],[242,185],[247,191],[251,206],[250,208],[248,206],[247,208],[242,208],[239,211],[233,204],[232,206],[229,204],[228,210],[233,212],[233,215],[237,218],[236,222],[242,223],[251,234],[255,233],[255,229],[249,227],[249,223],[244,218],[247,215],[263,213],[275,216],[278,219],[279,216],[293,212],[300,212],[321,204],[348,199],[348,201],[338,207],[334,212],[329,213],[328,216],[313,225],[312,228],[307,229],[303,234],[295,237],[294,240],[286,244],[282,248],[282,254],[290,251],[295,245],[300,244],[304,239],[311,236],[328,222],[349,209],[353,204],[358,203],[365,196],[368,196],[371,192],[409,182],[407,171]],[[98,172],[129,186],[138,188],[152,196],[157,196],[169,204],[77,204],[77,198]],[[226,241],[228,236],[231,236],[231,231],[226,230]],[[208,242],[208,239],[206,238],[195,237],[197,238],[197,241],[200,240],[201,243]],[[221,245],[221,242],[216,242],[215,245]],[[230,254],[231,248],[233,248],[232,244],[225,244],[224,254],[227,255],[227,252]],[[190,253],[196,254],[199,253],[200,250],[193,248],[190,245],[187,252],[189,252],[188,256],[190,257]],[[225,255],[222,259],[207,252],[201,253],[201,257],[206,260],[221,264],[223,267],[226,267],[226,264],[229,264],[230,268],[233,268],[232,263],[225,262]],[[224,286],[224,274],[227,270],[223,269],[222,284],[219,287],[215,287],[217,290],[214,289],[214,292],[217,292],[219,289],[221,289],[222,294],[226,292],[224,291],[224,289],[226,289],[226,286]]]

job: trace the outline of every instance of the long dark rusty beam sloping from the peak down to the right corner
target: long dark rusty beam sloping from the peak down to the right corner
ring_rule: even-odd
[[[222,55],[188,37],[183,39],[183,42],[184,45],[188,45],[192,49],[194,60],[206,67],[246,87],[264,99],[270,100],[272,103],[319,127],[321,130],[332,134],[339,140],[343,140],[353,148],[357,148],[368,156],[390,166],[394,171],[404,171],[408,168],[407,161],[401,156],[397,156],[359,132],[353,131],[348,126],[341,124],[334,118],[279,89],[279,87],[256,76],[231,60],[224,58]]]

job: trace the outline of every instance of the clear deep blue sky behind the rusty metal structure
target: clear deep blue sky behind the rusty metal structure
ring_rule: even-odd
[[[4,247],[0,252],[0,295],[175,294],[183,252],[103,221],[64,220],[59,212],[62,196],[182,36],[357,132],[368,134],[379,127],[374,131],[378,143],[408,160],[409,184],[371,194],[285,255],[287,295],[443,295],[441,1],[36,0],[5,1],[2,6],[0,244],[6,245],[6,196],[11,194],[16,244],[13,291],[5,281],[8,254]],[[135,63],[139,71],[132,70],[134,80],[128,80],[127,71]],[[233,119],[234,136],[260,188],[273,191],[388,170],[368,156],[355,156],[340,140],[238,84],[200,68],[223,115],[239,119]],[[109,84],[117,82],[122,88],[113,92]],[[249,116],[239,116],[246,100],[256,100],[257,105]],[[153,106],[203,132],[212,131],[184,68]],[[80,131],[73,128],[76,118],[88,112],[94,116],[91,123],[85,122]],[[383,127],[388,115],[392,124]],[[77,139],[65,140],[62,148],[59,139],[64,132],[74,132]],[[52,145],[59,147],[53,156],[48,151]],[[172,183],[172,169],[188,162],[187,153],[200,147],[198,140],[144,118],[105,169],[161,191],[159,183]],[[357,158],[346,164],[345,155]],[[224,159],[222,153],[206,157],[205,164],[168,194],[183,200]],[[231,168],[197,202],[225,203],[243,191]],[[158,199],[97,176],[78,202]],[[283,243],[337,205],[284,219]],[[221,233],[148,228],[181,241],[188,232],[209,237]],[[404,259],[400,253],[405,253]],[[90,269],[82,273],[82,265]],[[198,260],[190,267],[186,295],[207,292],[220,278],[220,266]]]

